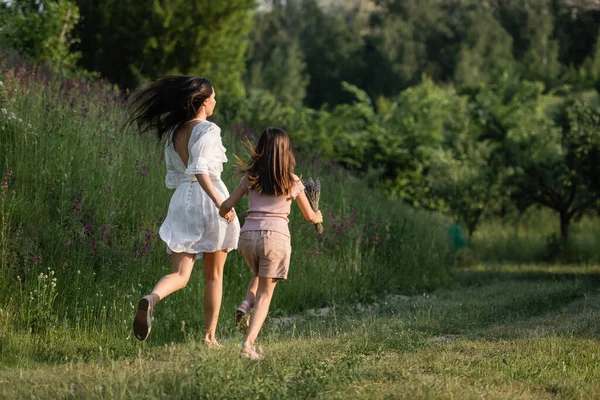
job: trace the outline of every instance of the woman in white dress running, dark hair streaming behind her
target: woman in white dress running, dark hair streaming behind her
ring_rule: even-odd
[[[229,192],[221,181],[227,161],[221,130],[206,119],[215,108],[215,90],[208,79],[167,76],[136,91],[130,120],[140,132],[153,130],[165,137],[166,186],[175,189],[160,237],[171,254],[172,272],[138,303],[133,321],[135,337],[145,340],[156,304],[186,286],[194,261],[204,264],[204,343],[219,347],[215,337],[223,291],[227,252],[237,247],[240,225],[230,209],[219,217]]]

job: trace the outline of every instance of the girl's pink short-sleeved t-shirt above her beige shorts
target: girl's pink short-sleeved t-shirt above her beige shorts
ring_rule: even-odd
[[[274,231],[290,236],[288,215],[290,215],[292,200],[295,200],[304,190],[300,178],[294,175],[294,179],[296,183],[287,196],[265,195],[248,188],[248,212],[241,232]],[[247,178],[243,177],[242,182],[248,182]]]

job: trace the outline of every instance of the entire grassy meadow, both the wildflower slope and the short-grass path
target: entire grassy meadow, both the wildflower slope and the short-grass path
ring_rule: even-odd
[[[126,125],[111,85],[2,62],[0,398],[599,396],[594,220],[574,228],[585,262],[537,262],[555,230],[547,222],[536,236],[534,214],[514,235],[484,224],[457,267],[446,217],[389,201],[302,146],[297,172],[321,180],[325,233],[292,211],[290,279],[260,337],[266,360],[237,357],[232,310],[249,271],[235,252],[221,350],[200,344],[199,273],[136,341],[137,299],[170,269],[157,237],[171,195],[162,144]],[[232,110],[214,121],[231,188],[233,155],[256,134]]]

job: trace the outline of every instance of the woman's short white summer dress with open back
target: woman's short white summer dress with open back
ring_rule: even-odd
[[[223,163],[227,162],[221,141],[221,129],[214,123],[203,121],[192,130],[188,142],[189,161],[186,167],[175,151],[172,140],[165,145],[167,177],[165,184],[175,189],[167,218],[160,227],[160,237],[167,244],[167,252],[196,254],[237,248],[240,222],[227,223],[219,216],[219,209],[200,187],[195,174],[207,174],[221,200],[229,191],[221,180]]]

